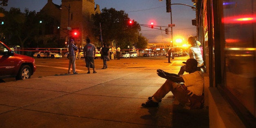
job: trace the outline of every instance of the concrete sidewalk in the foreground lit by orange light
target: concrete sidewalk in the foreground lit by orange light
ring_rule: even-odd
[[[208,128],[206,108],[173,105],[171,92],[141,107],[163,82],[155,69],[110,68],[0,83],[0,127]]]

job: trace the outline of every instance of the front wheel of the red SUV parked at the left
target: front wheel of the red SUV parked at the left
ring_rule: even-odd
[[[19,79],[29,79],[31,77],[31,68],[28,65],[23,65],[20,68],[20,71],[18,72],[18,75],[16,77],[17,80]]]

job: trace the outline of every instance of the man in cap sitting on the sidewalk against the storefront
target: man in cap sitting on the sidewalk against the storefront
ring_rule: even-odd
[[[183,63],[186,64],[185,71],[189,74],[177,75],[157,69],[157,74],[167,80],[157,92],[154,93],[152,97],[148,97],[148,101],[141,104],[141,106],[157,107],[161,99],[171,91],[180,103],[185,104],[185,108],[203,107],[204,79],[200,71],[196,70],[197,61],[195,59],[188,59]],[[184,82],[184,84],[179,84],[180,82]]]

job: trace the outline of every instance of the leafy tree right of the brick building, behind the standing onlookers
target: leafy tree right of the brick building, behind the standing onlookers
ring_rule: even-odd
[[[128,45],[138,42],[138,33],[141,27],[137,22],[128,24],[130,18],[123,10],[116,11],[113,8],[102,9],[102,13],[92,15],[93,19],[93,33],[96,37],[100,37],[100,26],[102,29],[102,39],[108,45],[115,40],[116,45],[121,49],[126,49]],[[100,41],[100,38],[99,38]]]

